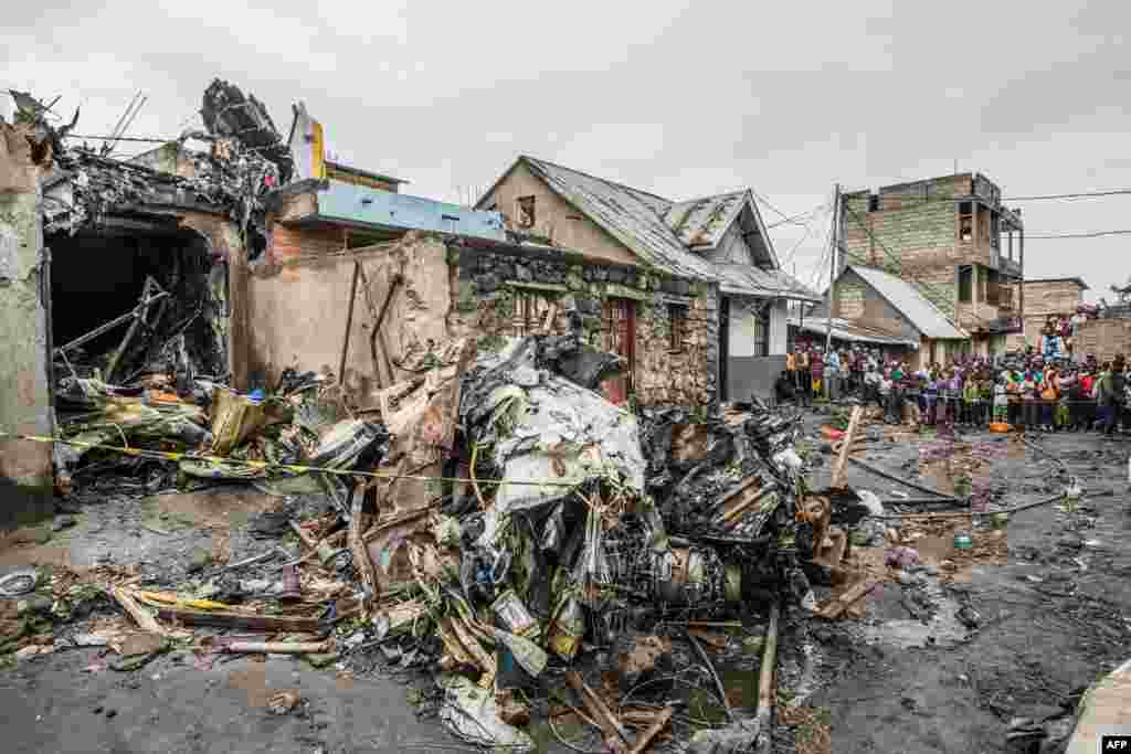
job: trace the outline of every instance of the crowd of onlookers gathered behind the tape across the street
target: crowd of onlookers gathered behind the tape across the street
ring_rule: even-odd
[[[925,425],[996,422],[1034,432],[1131,431],[1131,383],[1122,354],[1099,363],[1093,355],[1046,356],[1030,347],[994,358],[960,355],[947,366],[913,370],[905,357],[878,349],[826,353],[802,344],[786,355],[776,392],[779,401],[802,406],[854,396],[882,408],[892,423],[904,421],[909,404]]]

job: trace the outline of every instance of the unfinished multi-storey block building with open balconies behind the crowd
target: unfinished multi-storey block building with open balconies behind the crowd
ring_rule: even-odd
[[[1001,189],[959,173],[857,191],[844,198],[847,265],[898,275],[972,336],[979,354],[1005,349],[1025,305],[1025,226]]]

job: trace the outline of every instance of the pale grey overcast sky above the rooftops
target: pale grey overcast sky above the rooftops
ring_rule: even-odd
[[[343,162],[447,200],[523,153],[672,199],[749,185],[788,215],[828,203],[837,181],[877,188],[956,161],[1007,197],[1131,187],[1131,6],[899,6],[19,2],[0,25],[0,86],[62,95],[68,115],[81,104],[76,131],[93,135],[140,90],[130,135],[172,137],[222,77],[284,133],[304,101]],[[1030,236],[1131,229],[1131,196],[1019,206]],[[805,281],[827,220],[771,232]],[[1026,274],[1081,276],[1111,300],[1128,244],[1033,240]]]

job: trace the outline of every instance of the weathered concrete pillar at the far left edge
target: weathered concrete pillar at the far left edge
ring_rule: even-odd
[[[0,123],[0,141],[6,129]],[[8,157],[0,154],[0,162]],[[0,165],[0,177],[18,172],[2,170],[10,166]],[[50,435],[54,430],[41,202],[37,179],[0,180],[0,432]],[[0,477],[20,486],[50,493],[51,458],[50,444],[0,439]]]

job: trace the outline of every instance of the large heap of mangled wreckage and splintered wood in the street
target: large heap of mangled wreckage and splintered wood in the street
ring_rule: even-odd
[[[288,372],[269,395],[204,379],[178,393],[175,374],[130,387],[68,378],[59,463],[67,479],[116,465],[150,493],[221,480],[331,501],[321,517],[279,528],[309,554],[275,569],[282,588],[258,592],[267,603],[224,601],[233,589],[222,583],[191,595],[114,588],[163,642],[199,643],[185,626],[238,627],[273,635],[215,636],[209,651],[333,659],[365,647],[398,662],[431,658],[446,725],[519,751],[534,744],[518,690],[564,677],[607,751],[642,751],[675,710],[622,704],[624,692],[671,665],[673,640],[769,615],[761,665],[771,671],[777,615],[815,610],[811,580],[828,582],[846,553],[829,561],[827,549],[846,538],[830,497],[805,489],[797,417],[757,402],[637,416],[595,391],[621,369],[577,333],[484,353],[459,339],[382,390],[371,414],[313,373]],[[689,641],[692,661],[715,677],[708,693],[734,719]],[[610,648],[621,658],[613,693],[562,676]],[[670,700],[664,690],[656,684]],[[759,716],[703,731],[696,751],[753,743],[768,710],[767,694]]]

